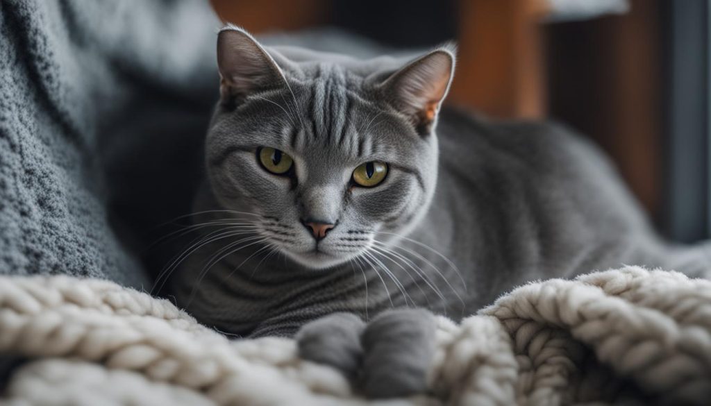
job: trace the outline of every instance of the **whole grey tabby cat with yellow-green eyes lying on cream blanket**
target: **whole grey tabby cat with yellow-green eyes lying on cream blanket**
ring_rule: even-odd
[[[239,336],[292,336],[366,395],[419,392],[432,313],[623,264],[701,275],[569,130],[441,109],[454,48],[356,60],[218,36],[220,102],[178,304]],[[435,131],[436,130],[436,131]]]

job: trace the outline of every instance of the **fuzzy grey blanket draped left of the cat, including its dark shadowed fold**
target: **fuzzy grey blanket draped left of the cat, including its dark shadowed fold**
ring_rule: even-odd
[[[206,1],[0,2],[0,274],[147,287],[216,94]]]

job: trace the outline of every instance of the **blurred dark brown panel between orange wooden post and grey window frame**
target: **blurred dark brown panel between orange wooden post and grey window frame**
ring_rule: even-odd
[[[549,114],[612,157],[655,220],[663,210],[661,1],[623,16],[546,26]]]

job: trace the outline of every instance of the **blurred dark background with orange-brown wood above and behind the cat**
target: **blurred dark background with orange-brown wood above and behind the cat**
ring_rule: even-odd
[[[336,26],[404,48],[456,38],[449,103],[569,124],[684,242],[710,230],[709,2],[631,0],[624,14],[551,21],[546,0],[212,0],[255,33]]]

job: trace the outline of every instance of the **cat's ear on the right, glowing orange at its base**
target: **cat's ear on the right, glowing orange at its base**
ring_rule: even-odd
[[[454,46],[433,50],[405,65],[381,84],[386,99],[406,114],[420,134],[432,132],[454,76]]]

